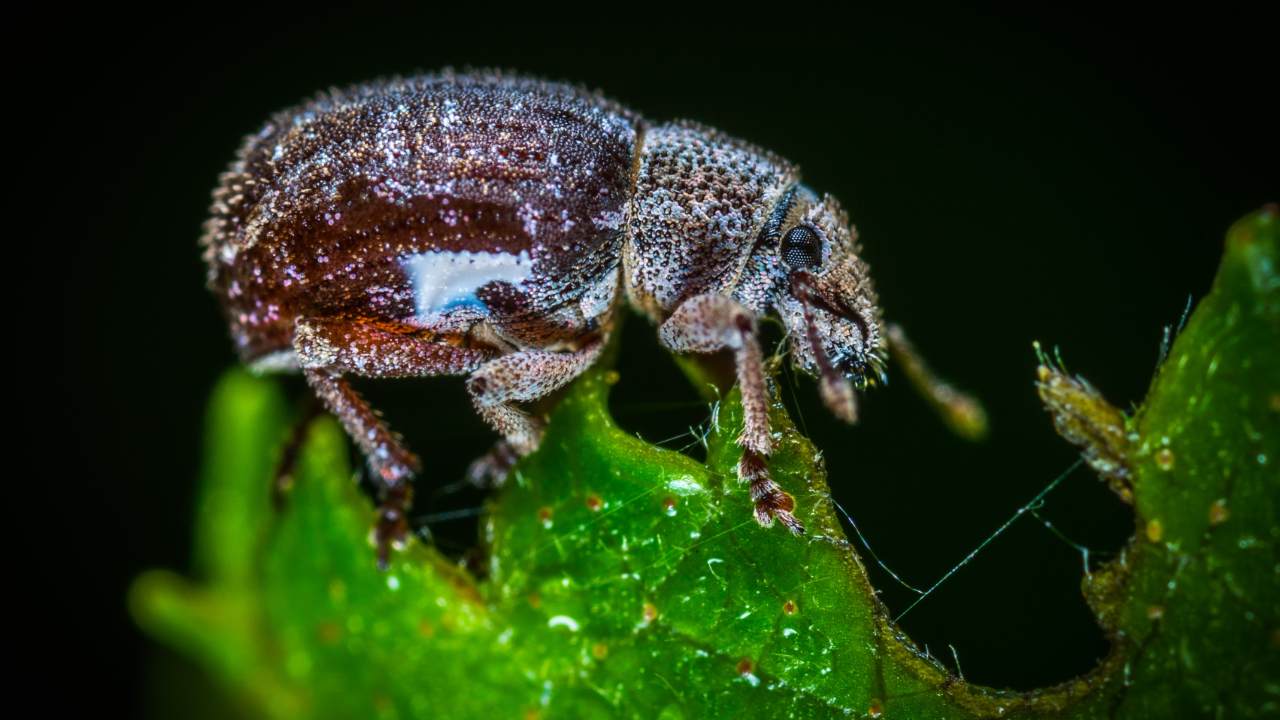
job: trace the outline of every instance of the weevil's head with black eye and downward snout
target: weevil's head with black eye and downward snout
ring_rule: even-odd
[[[884,328],[856,234],[835,197],[795,188],[765,227],[776,237],[774,302],[791,343],[792,361],[818,378],[823,402],[854,421],[854,389],[884,377]]]

